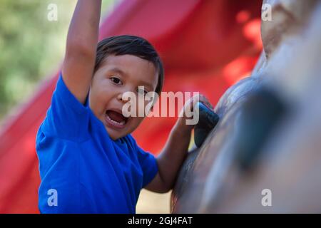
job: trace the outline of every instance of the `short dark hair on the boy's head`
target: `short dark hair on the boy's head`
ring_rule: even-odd
[[[158,83],[155,92],[161,93],[164,81],[163,63],[155,48],[146,39],[130,35],[111,36],[103,39],[97,46],[95,72],[109,55],[133,55],[151,61],[158,71]]]

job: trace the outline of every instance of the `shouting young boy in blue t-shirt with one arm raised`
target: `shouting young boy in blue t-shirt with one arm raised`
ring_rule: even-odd
[[[173,187],[188,151],[193,125],[185,117],[157,158],[130,135],[143,117],[123,115],[123,94],[161,93],[163,66],[143,38],[113,36],[97,47],[100,12],[101,0],[78,0],[62,73],[37,134],[42,213],[135,213],[143,187]]]

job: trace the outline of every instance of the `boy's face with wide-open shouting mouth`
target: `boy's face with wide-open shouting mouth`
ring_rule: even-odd
[[[138,104],[138,93],[144,95],[155,91],[157,83],[158,73],[155,66],[143,58],[111,55],[101,63],[93,74],[89,105],[113,140],[132,133],[144,118],[138,117],[138,105],[137,117],[125,118],[122,115],[123,105],[131,102],[122,100],[123,93],[135,93]],[[144,90],[138,90],[138,86],[144,86]],[[146,101],[141,103],[144,103],[143,108],[148,104]]]

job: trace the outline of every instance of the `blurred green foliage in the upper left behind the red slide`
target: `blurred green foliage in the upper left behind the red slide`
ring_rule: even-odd
[[[48,19],[49,4],[57,6],[57,21]],[[103,11],[114,4],[103,1]],[[76,0],[0,0],[0,120],[58,70],[75,5]]]

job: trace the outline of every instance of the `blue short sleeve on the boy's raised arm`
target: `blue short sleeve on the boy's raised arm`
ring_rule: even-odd
[[[40,130],[45,135],[55,135],[66,140],[85,140],[89,122],[88,109],[68,90],[60,74],[51,106]]]

